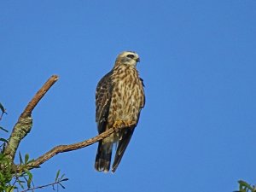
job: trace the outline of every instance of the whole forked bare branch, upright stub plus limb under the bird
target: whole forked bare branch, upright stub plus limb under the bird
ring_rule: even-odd
[[[37,106],[38,102],[43,98],[45,93],[49,90],[49,88],[55,84],[58,80],[57,75],[51,76],[47,82],[41,87],[40,90],[33,96],[31,102],[29,102],[24,109],[23,113],[20,114],[20,118],[16,123],[11,136],[9,137],[9,144],[4,150],[4,154],[8,155],[11,160],[14,160],[15,153],[17,148],[19,147],[20,141],[26,137],[26,135],[32,129],[32,110]],[[85,148],[93,143],[97,143],[101,141],[103,138],[110,136],[114,131],[119,131],[121,128],[111,128],[108,131],[103,132],[102,134],[92,137],[88,140],[79,143],[73,143],[69,145],[59,145],[55,148],[52,148],[47,153],[38,157],[38,159],[33,160],[31,163],[27,164],[26,167],[29,169],[33,169],[42,165],[45,161],[54,157],[56,154],[77,150],[79,148]],[[15,172],[23,172],[22,166],[15,166]]]

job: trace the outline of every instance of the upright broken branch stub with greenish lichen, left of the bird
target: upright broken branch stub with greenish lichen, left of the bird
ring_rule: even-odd
[[[40,90],[33,96],[31,102],[28,103],[23,113],[20,114],[20,118],[18,122],[15,124],[15,127],[9,137],[9,143],[4,149],[4,154],[9,157],[10,160],[15,159],[15,153],[17,148],[19,147],[20,141],[26,137],[26,135],[32,129],[32,110],[36,107],[38,102],[43,98],[45,93],[49,90],[49,88],[55,84],[58,80],[57,75],[51,76],[47,82],[41,87]]]

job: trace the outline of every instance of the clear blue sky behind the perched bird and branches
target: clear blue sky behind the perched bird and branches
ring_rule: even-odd
[[[256,183],[256,1],[1,1],[1,126],[11,130],[52,74],[22,154],[96,136],[96,84],[135,50],[146,106],[114,174],[94,170],[96,144],[33,171],[61,169],[61,191],[233,191]],[[5,135],[8,137],[8,135]],[[44,189],[42,191],[52,191]]]

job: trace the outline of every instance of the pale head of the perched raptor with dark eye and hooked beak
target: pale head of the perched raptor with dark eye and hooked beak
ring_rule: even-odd
[[[139,55],[134,51],[124,51],[118,55],[115,65],[129,65],[136,67],[137,62],[140,61]]]

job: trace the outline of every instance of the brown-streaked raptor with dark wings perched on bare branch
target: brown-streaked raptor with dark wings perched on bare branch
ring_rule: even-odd
[[[121,128],[98,143],[95,160],[98,172],[109,172],[114,144],[117,147],[111,172],[116,171],[145,105],[143,79],[137,71],[139,61],[140,57],[136,52],[121,52],[112,70],[96,86],[98,133],[110,128]]]

